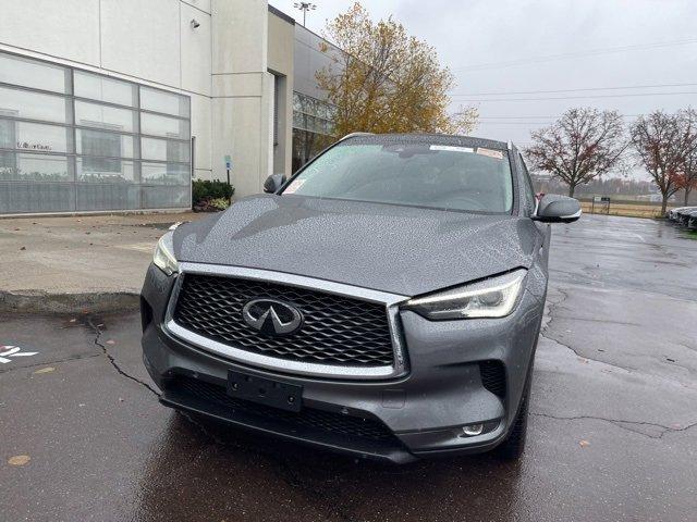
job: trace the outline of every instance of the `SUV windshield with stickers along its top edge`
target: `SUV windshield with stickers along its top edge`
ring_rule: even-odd
[[[318,157],[283,190],[321,198],[510,213],[511,165],[505,150],[419,139],[348,140]]]

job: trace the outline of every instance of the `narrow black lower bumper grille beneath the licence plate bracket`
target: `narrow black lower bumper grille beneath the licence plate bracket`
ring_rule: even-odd
[[[230,408],[231,414],[240,412],[256,415],[267,420],[282,423],[286,431],[295,427],[313,428],[319,432],[332,433],[351,437],[359,437],[369,440],[393,442],[394,435],[380,421],[364,419],[362,417],[344,415],[316,408],[304,407],[299,412],[280,410],[269,406],[258,405],[248,400],[230,397],[223,386],[218,386],[204,381],[186,376],[179,376],[168,389],[175,389],[188,396],[210,401],[219,406]]]

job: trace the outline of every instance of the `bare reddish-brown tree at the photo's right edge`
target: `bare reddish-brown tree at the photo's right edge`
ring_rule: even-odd
[[[697,145],[692,111],[675,114],[653,111],[639,116],[632,125],[631,134],[644,167],[661,191],[661,212],[665,213],[668,199],[680,190],[680,178]]]

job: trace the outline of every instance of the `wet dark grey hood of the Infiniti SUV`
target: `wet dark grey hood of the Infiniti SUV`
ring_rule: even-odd
[[[416,296],[529,268],[536,234],[511,215],[264,195],[176,228],[174,254]]]

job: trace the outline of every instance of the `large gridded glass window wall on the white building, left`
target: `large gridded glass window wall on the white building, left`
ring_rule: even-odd
[[[0,53],[0,83],[68,92],[70,74],[69,67]],[[85,71],[73,75],[75,96],[96,100],[75,100],[74,119],[70,97],[0,86],[0,213],[188,208],[188,97]],[[100,103],[135,108],[136,89],[144,110],[180,117]],[[56,154],[71,152],[77,156]]]

